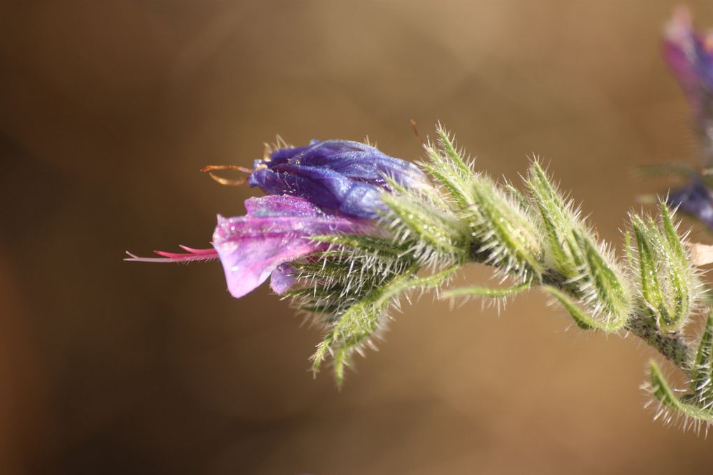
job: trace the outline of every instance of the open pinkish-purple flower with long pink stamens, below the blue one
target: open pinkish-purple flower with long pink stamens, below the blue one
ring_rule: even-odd
[[[214,249],[180,246],[188,254],[156,251],[160,258],[141,258],[129,254],[128,261],[183,262],[220,259],[228,291],[239,298],[272,276],[270,285],[284,293],[294,285],[289,263],[326,249],[312,241],[319,234],[376,234],[374,221],[327,214],[307,199],[291,196],[249,198],[247,214],[218,216],[213,233]]]

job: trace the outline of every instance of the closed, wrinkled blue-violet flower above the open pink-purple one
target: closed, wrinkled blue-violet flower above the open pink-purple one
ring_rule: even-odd
[[[248,183],[269,194],[307,198],[347,216],[374,218],[385,209],[379,196],[389,191],[386,177],[404,187],[429,186],[415,165],[349,140],[312,140],[306,147],[275,150],[269,158],[255,160]]]

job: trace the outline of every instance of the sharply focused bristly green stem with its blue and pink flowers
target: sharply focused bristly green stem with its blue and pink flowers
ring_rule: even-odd
[[[409,297],[500,302],[535,288],[548,293],[583,331],[632,334],[655,348],[690,381],[672,389],[650,363],[647,391],[657,416],[684,427],[713,422],[713,320],[696,343],[687,324],[707,315],[701,273],[672,209],[631,213],[626,246],[615,254],[597,237],[572,199],[533,160],[515,186],[478,171],[438,127],[418,166],[370,145],[346,140],[281,143],[247,182],[267,193],[250,198],[247,214],[219,216],[212,249],[182,246],[158,258],[220,259],[227,287],[240,297],[271,278],[272,289],[324,328],[311,358],[329,365],[337,385],[354,355],[374,347]],[[452,288],[468,264],[489,266],[507,286]]]

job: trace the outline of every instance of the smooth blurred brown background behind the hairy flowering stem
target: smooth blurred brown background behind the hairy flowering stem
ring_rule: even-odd
[[[632,169],[696,159],[660,58],[673,5],[1,2],[0,471],[711,473],[713,442],[642,409],[652,353],[568,330],[538,293],[499,316],[406,307],[338,392],[307,372],[319,329],[267,288],[235,300],[218,263],[122,261],[206,246],[243,212],[255,190],[203,165],[250,165],[276,133],[413,160],[410,118],[494,176],[540,155],[620,242],[670,183]]]

